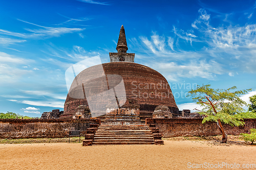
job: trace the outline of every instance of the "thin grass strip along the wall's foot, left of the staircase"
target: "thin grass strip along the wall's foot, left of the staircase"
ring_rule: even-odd
[[[84,137],[80,138],[80,142]],[[28,139],[0,139],[0,144],[23,143],[68,143],[69,138],[28,138]],[[70,137],[70,143],[79,143],[79,137]]]

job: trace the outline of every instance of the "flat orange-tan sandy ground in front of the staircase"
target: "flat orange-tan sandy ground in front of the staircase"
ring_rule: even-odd
[[[242,168],[243,164],[256,164],[256,145],[188,140],[164,143],[91,147],[81,143],[0,144],[0,169],[198,169],[191,167],[193,163],[195,167],[203,164],[205,168],[200,169],[256,169]],[[222,162],[240,168],[211,168]]]

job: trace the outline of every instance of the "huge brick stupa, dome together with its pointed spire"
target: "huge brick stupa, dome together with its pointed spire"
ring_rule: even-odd
[[[119,39],[116,47],[117,53],[110,53],[110,62],[95,65],[81,71],[73,81],[69,94],[64,105],[64,114],[60,118],[71,117],[79,105],[89,106],[90,96],[99,95],[108,90],[114,89],[120,82],[125,87],[125,98],[136,100],[139,108],[140,120],[152,117],[157,106],[166,106],[171,113],[179,114],[179,109],[167,80],[156,70],[134,63],[135,54],[126,53],[128,50],[123,26],[120,29]],[[104,70],[104,74],[97,79],[93,76]],[[90,79],[90,81],[83,81]],[[85,98],[84,91],[89,91],[90,95]],[[122,95],[122,94],[121,94]],[[75,99],[73,96],[80,96]],[[118,97],[116,96],[116,99]],[[106,114],[106,110],[111,109],[103,105],[108,98],[99,97],[97,106],[90,108],[96,116]],[[119,107],[119,106],[118,106]],[[92,110],[93,109],[93,110]],[[99,110],[97,112],[97,109]],[[120,109],[120,107],[118,108]],[[131,110],[132,108],[130,108]],[[103,111],[102,111],[103,110]],[[137,112],[136,112],[137,113]]]

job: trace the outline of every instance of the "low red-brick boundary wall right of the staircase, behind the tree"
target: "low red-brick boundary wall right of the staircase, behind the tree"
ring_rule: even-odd
[[[202,124],[201,118],[146,118],[146,124],[156,124],[163,137],[176,136],[214,136],[221,135],[221,132],[214,122]],[[244,119],[245,125],[232,127],[222,124],[228,135],[239,135],[240,133],[249,133],[251,128],[256,129],[256,119]]]

